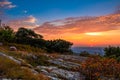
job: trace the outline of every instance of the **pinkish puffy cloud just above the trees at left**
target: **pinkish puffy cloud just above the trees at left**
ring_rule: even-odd
[[[20,27],[35,28],[37,26],[36,21],[37,19],[34,16],[30,15],[28,17],[10,20],[8,21],[8,25],[14,30],[17,30]]]

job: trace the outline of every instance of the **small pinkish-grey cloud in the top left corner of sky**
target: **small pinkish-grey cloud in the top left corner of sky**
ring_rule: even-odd
[[[8,0],[0,0],[0,8],[15,8],[16,5],[13,5],[12,2],[8,1]]]

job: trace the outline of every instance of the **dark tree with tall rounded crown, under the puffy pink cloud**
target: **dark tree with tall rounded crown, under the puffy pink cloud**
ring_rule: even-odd
[[[31,29],[19,28],[16,32],[16,43],[27,44],[38,48],[43,48],[45,40],[42,35],[36,34]]]

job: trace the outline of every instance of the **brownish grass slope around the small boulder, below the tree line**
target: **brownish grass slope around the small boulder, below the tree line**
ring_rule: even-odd
[[[10,51],[10,46],[15,46],[17,48],[17,51]],[[47,62],[49,58],[44,55],[44,50],[31,47],[29,45],[4,43],[3,46],[0,46],[0,52],[3,52],[9,56],[13,56],[16,59],[23,59],[33,66],[49,64]],[[34,59],[33,56],[35,56],[36,59]]]

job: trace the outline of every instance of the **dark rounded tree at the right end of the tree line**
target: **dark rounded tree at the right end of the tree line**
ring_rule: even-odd
[[[46,42],[46,48],[48,52],[71,52],[71,46],[71,42],[62,39],[50,40]]]

